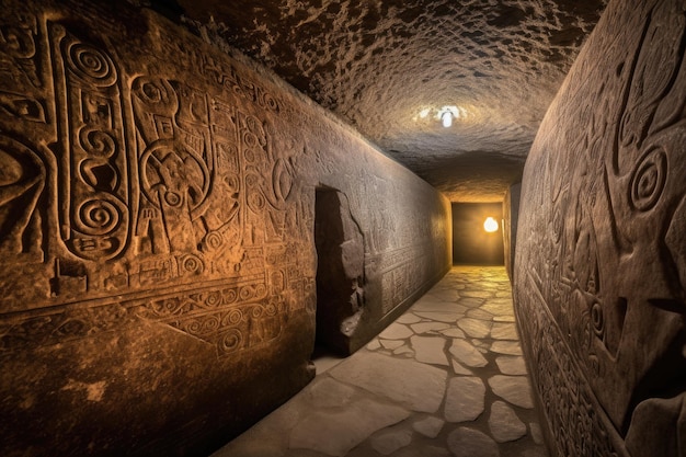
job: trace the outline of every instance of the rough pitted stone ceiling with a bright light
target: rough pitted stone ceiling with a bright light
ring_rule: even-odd
[[[453,202],[499,202],[518,180],[605,3],[179,0]],[[444,106],[459,111],[449,128]]]

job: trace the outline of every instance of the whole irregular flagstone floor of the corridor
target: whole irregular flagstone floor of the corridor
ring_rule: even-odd
[[[546,457],[503,267],[454,267],[213,457]]]

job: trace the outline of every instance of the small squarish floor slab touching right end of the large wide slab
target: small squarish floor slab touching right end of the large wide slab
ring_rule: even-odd
[[[448,382],[445,419],[448,422],[473,421],[483,412],[485,386],[478,377],[457,376]]]

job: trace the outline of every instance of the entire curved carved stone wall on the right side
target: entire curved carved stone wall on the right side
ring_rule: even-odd
[[[686,455],[686,14],[613,1],[527,160],[515,307],[560,456]]]

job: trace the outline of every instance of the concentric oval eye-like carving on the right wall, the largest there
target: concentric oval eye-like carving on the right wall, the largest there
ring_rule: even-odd
[[[631,175],[631,204],[638,210],[653,208],[667,179],[667,158],[663,149],[652,149],[639,161]]]

